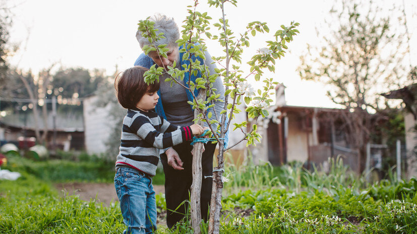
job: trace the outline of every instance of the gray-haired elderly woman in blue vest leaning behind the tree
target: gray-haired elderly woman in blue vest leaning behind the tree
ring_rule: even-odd
[[[164,67],[166,70],[167,66],[172,66],[175,61],[176,68],[183,69],[181,66],[183,64],[183,61],[181,60],[183,56],[182,53],[180,53],[181,48],[175,43],[180,37],[180,31],[173,19],[163,15],[157,15],[150,20],[155,22],[153,26],[158,29],[158,33],[164,33],[163,36],[165,37],[165,39],[156,41],[156,46],[166,44],[169,51],[167,52],[166,58],[159,56],[156,51],[149,52],[148,55],[142,53],[136,60],[135,65],[149,68],[156,63],[157,66]],[[151,45],[147,38],[142,37],[140,31],[136,33],[136,38],[138,39],[141,48],[145,45]],[[216,66],[215,64],[211,64],[212,59],[208,52],[205,52],[205,57],[206,60],[204,63],[208,66],[210,73],[213,74]],[[167,77],[167,73],[164,73],[159,77],[160,88],[158,95],[160,98],[155,107],[156,112],[167,119],[171,124],[179,126],[193,124],[194,112],[190,104],[187,103],[188,101],[193,101],[191,93],[178,84],[173,84],[171,87],[170,82],[165,82]],[[184,79],[184,82],[186,82],[186,79]],[[217,89],[217,94],[220,94],[219,99],[224,100],[224,87],[220,76],[213,84],[213,88]],[[223,102],[217,102],[215,103],[214,108],[217,113],[220,113],[223,107]],[[213,115],[213,117],[214,116],[215,115]],[[205,151],[202,155],[203,181],[201,186],[201,215],[203,219],[207,221],[212,179],[210,177],[204,179],[204,176],[212,176],[213,174],[213,154],[216,144],[207,143],[204,147]],[[180,204],[189,199],[189,192],[193,179],[193,157],[191,150],[192,146],[190,145],[190,142],[184,142],[173,148],[167,149],[165,154],[161,155],[161,162],[165,173],[166,224],[169,228],[174,226],[178,221],[181,221],[188,208],[187,203],[183,203],[181,206]],[[177,209],[178,206],[180,207]]]

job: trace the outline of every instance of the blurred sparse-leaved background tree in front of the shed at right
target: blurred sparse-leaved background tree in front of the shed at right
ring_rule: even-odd
[[[321,46],[308,46],[299,67],[303,79],[330,85],[327,95],[346,107],[341,113],[358,151],[362,172],[366,144],[387,102],[380,95],[410,84],[405,17],[398,6],[382,9],[381,2],[337,1],[324,28]]]

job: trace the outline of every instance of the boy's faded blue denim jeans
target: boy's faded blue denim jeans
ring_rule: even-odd
[[[123,234],[147,234],[156,230],[156,200],[152,178],[133,168],[118,168],[114,187],[120,200]]]

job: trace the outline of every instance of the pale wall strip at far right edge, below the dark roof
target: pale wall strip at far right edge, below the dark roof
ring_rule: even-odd
[[[407,147],[407,174],[408,178],[417,178],[417,157],[414,153],[414,147],[417,146],[417,133],[413,128],[417,122],[414,120],[412,114],[407,114],[404,117],[405,122],[405,144]]]

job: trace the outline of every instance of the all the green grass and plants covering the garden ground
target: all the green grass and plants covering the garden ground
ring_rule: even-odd
[[[349,173],[340,158],[329,162],[328,174],[296,163],[248,163],[239,168],[228,164],[220,233],[417,232],[417,180],[397,181],[392,175],[368,184]],[[0,181],[0,233],[121,233],[117,202],[83,201],[62,196],[53,187],[63,181],[111,183],[114,169],[106,165],[10,158],[2,169],[18,171],[22,177]],[[157,205],[159,212],[165,210],[164,196],[157,196]],[[202,229],[204,233],[206,226]],[[192,230],[184,221],[173,230],[160,225],[158,233]]]

